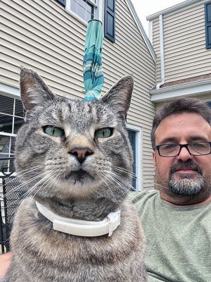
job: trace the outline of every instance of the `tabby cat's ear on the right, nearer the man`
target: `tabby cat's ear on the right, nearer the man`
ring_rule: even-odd
[[[134,79],[132,75],[125,75],[108,90],[101,101],[114,106],[118,113],[126,116],[129,110],[133,89]]]

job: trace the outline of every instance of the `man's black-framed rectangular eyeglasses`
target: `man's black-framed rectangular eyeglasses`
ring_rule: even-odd
[[[185,147],[192,156],[211,154],[211,142],[192,142],[187,144],[163,144],[155,146],[160,157],[177,157]]]

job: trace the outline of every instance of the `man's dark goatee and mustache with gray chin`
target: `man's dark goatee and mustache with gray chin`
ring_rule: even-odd
[[[177,179],[174,179],[174,172],[186,168],[193,169],[195,171],[194,176],[192,173],[181,173],[177,176]],[[197,195],[205,188],[202,168],[192,160],[178,161],[177,164],[173,164],[170,168],[169,188],[177,195]]]

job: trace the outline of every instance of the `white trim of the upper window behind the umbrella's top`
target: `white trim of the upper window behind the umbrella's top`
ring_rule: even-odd
[[[70,13],[74,18],[76,18],[77,20],[79,20],[79,22],[83,23],[84,25],[87,25],[87,21],[80,18],[77,13],[74,13],[71,9],[70,9],[70,1],[71,0],[66,0],[66,6],[65,6],[65,10]],[[90,4],[92,4],[95,7],[95,11],[94,11],[94,19],[96,20],[100,20],[101,23],[103,23],[103,18],[104,18],[104,1],[102,0],[96,0],[96,4],[94,4],[93,1],[90,0]]]

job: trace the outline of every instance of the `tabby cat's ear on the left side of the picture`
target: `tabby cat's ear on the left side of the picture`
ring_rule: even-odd
[[[20,70],[20,97],[25,112],[35,106],[42,106],[44,102],[56,99],[36,71],[25,67]]]

